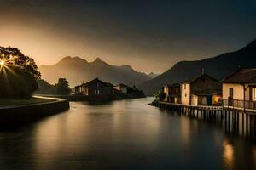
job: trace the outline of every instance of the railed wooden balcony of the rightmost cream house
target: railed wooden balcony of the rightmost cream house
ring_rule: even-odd
[[[223,99],[224,108],[256,112],[256,101]]]

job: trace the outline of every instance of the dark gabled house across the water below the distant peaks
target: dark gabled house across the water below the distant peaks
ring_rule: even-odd
[[[87,96],[110,96],[113,95],[113,84],[102,82],[100,79],[96,78],[90,82],[76,86],[75,94]]]

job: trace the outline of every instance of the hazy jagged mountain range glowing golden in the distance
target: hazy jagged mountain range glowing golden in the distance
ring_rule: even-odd
[[[133,70],[130,65],[108,65],[99,58],[88,62],[79,57],[65,57],[55,65],[42,65],[38,70],[47,82],[55,83],[59,77],[65,77],[71,87],[96,77],[104,82],[125,83],[129,86],[138,85],[151,79],[145,73]]]

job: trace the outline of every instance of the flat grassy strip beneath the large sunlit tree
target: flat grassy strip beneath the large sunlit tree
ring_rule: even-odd
[[[0,107],[9,107],[17,105],[32,105],[54,101],[55,99],[41,99],[41,98],[30,98],[30,99],[0,99]]]

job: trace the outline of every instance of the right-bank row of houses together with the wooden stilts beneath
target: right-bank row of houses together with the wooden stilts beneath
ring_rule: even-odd
[[[187,81],[166,84],[149,105],[223,124],[227,132],[255,136],[256,69],[239,69],[220,81],[202,71]]]

